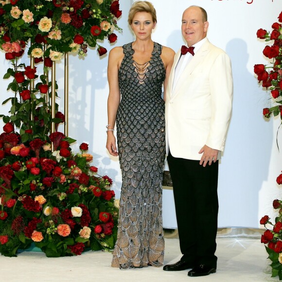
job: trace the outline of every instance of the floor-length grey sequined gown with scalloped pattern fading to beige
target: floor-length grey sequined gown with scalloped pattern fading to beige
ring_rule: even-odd
[[[117,140],[123,176],[119,230],[113,267],[163,264],[162,173],[165,158],[165,69],[162,46],[154,43],[151,60],[133,60],[132,43],[123,46],[119,70],[122,95],[117,112]]]

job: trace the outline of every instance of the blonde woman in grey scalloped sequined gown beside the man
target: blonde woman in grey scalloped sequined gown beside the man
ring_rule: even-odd
[[[153,5],[137,1],[128,22],[134,42],[113,48],[108,60],[108,125],[106,148],[119,156],[123,176],[119,229],[113,267],[163,264],[162,172],[165,158],[162,85],[174,51],[153,42],[157,19]],[[113,134],[117,124],[117,141]]]

